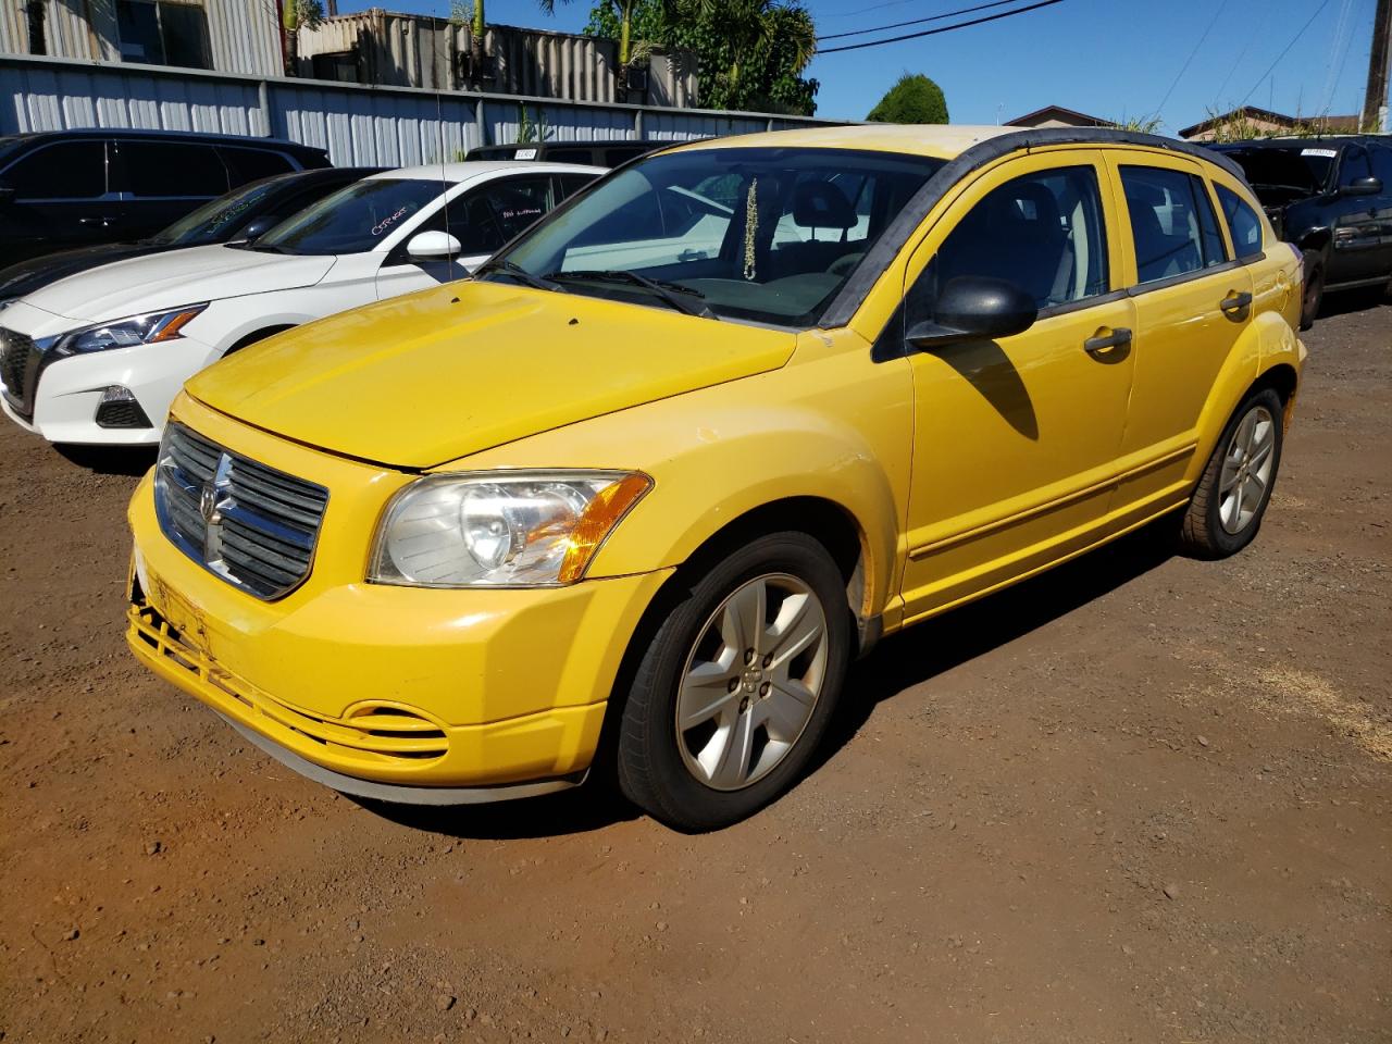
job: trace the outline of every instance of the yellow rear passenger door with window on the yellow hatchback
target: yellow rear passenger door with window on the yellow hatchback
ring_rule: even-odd
[[[1126,212],[1122,270],[1136,306],[1136,376],[1122,440],[1130,477],[1115,504],[1162,508],[1187,489],[1200,415],[1251,319],[1251,273],[1232,258],[1197,161],[1115,150],[1108,166]]]

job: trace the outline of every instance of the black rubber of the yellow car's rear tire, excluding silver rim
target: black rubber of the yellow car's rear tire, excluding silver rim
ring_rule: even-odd
[[[1258,411],[1264,411],[1264,413]],[[1244,522],[1240,522],[1240,528],[1233,532],[1232,525],[1239,523],[1239,519],[1233,518],[1229,525],[1224,522],[1224,515],[1231,505],[1222,490],[1224,465],[1235,445],[1235,436],[1242,429],[1247,416],[1254,412],[1258,413],[1258,423],[1260,418],[1270,418],[1272,438],[1270,451],[1271,469],[1265,486],[1261,487],[1260,500],[1253,505],[1250,516]],[[1242,401],[1242,405],[1233,411],[1226,426],[1224,426],[1218,444],[1214,447],[1212,457],[1208,458],[1208,466],[1204,468],[1204,473],[1194,487],[1194,496],[1189,501],[1189,509],[1185,512],[1185,519],[1180,525],[1180,546],[1187,554],[1194,558],[1226,558],[1250,544],[1257,536],[1257,530],[1261,529],[1261,519],[1267,514],[1267,505],[1271,503],[1271,491],[1276,486],[1276,475],[1281,470],[1281,450],[1285,441],[1282,413],[1281,397],[1272,388],[1250,391]]]

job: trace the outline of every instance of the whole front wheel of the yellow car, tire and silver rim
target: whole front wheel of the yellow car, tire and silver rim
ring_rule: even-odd
[[[688,832],[752,816],[807,767],[853,640],[845,579],[818,541],[773,533],[732,553],[682,593],[643,651],[619,725],[619,788]]]

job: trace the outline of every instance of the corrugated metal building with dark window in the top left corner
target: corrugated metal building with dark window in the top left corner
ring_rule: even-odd
[[[0,0],[0,53],[281,71],[276,0]]]

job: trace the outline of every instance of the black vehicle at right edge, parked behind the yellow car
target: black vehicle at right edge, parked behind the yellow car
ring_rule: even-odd
[[[1276,235],[1304,255],[1300,327],[1325,290],[1392,283],[1392,136],[1265,138],[1210,146],[1246,171]]]

